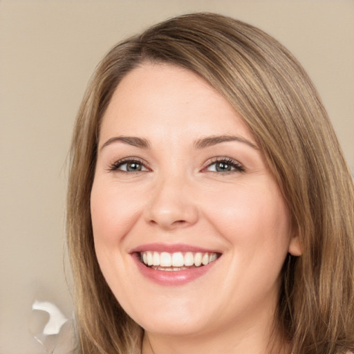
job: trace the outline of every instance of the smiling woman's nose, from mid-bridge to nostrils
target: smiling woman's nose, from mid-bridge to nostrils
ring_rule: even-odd
[[[185,180],[165,178],[157,183],[151,191],[151,199],[145,209],[147,223],[171,231],[194,225],[197,220],[196,198],[193,189]]]

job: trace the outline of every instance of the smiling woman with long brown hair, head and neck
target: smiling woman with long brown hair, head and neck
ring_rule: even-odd
[[[82,353],[353,350],[353,180],[272,37],[196,13],[118,44],[71,158]]]

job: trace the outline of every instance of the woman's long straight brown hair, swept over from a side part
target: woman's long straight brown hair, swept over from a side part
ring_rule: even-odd
[[[302,250],[284,263],[274,318],[292,353],[353,351],[353,180],[319,95],[269,35],[229,17],[194,13],[115,46],[77,115],[67,232],[82,353],[141,350],[142,329],[118,304],[95,257],[90,194],[102,115],[122,77],[147,61],[182,66],[216,88],[248,124],[277,178]]]

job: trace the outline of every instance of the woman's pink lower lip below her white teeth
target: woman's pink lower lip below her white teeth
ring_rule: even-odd
[[[216,261],[203,265],[198,268],[190,268],[187,270],[155,270],[148,268],[146,265],[140,262],[137,254],[133,254],[133,259],[138,265],[138,269],[144,277],[147,277],[151,281],[154,281],[160,285],[165,286],[178,286],[194,281],[195,279],[202,277],[208,270],[212,268]]]

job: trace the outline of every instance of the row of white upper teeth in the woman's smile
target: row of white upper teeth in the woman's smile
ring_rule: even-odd
[[[207,265],[215,261],[216,253],[202,252],[141,252],[141,259],[146,265],[160,265],[161,267],[183,267],[195,265],[196,267]]]

